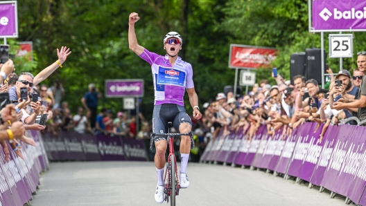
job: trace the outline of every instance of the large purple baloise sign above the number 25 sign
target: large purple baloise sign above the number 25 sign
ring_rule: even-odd
[[[312,1],[314,30],[366,30],[366,1]]]

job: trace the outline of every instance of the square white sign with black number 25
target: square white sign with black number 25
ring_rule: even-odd
[[[329,35],[329,57],[353,57],[354,55],[354,35]]]

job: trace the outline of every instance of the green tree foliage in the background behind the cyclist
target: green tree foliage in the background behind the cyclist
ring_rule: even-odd
[[[193,66],[200,105],[213,99],[223,86],[234,84],[235,71],[227,66],[229,44],[269,46],[279,50],[274,66],[289,77],[290,54],[320,48],[320,34],[308,32],[308,4],[301,0],[28,0],[18,1],[19,39],[33,41],[36,62],[17,62],[19,71],[40,72],[57,59],[56,48],[68,46],[72,54],[44,83],[60,79],[66,100],[76,109],[87,85],[96,83],[104,93],[105,79],[144,79],[143,112],[153,109],[153,79],[149,64],[128,48],[128,16],[141,17],[135,28],[139,44],[164,55],[162,39],[175,30],[184,44],[180,56]],[[327,36],[325,49],[328,50]],[[356,32],[355,51],[363,50],[366,35]],[[16,46],[16,41],[11,41]],[[338,59],[328,59],[338,71]],[[344,59],[355,68],[355,59]],[[269,78],[259,69],[256,79]],[[100,102],[114,111],[121,99]],[[191,111],[188,98],[186,107]]]

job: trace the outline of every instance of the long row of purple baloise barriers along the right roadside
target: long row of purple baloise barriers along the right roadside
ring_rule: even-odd
[[[267,169],[297,182],[305,180],[309,187],[320,186],[320,192],[329,189],[331,198],[340,194],[347,197],[346,203],[366,205],[366,127],[330,125],[320,142],[323,126],[315,131],[317,124],[306,122],[290,136],[281,130],[268,135],[261,126],[251,141],[243,129],[228,135],[220,131],[200,162]]]

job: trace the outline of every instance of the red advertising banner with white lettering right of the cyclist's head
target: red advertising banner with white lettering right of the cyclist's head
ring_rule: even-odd
[[[276,56],[275,48],[230,44],[229,68],[266,68]]]

